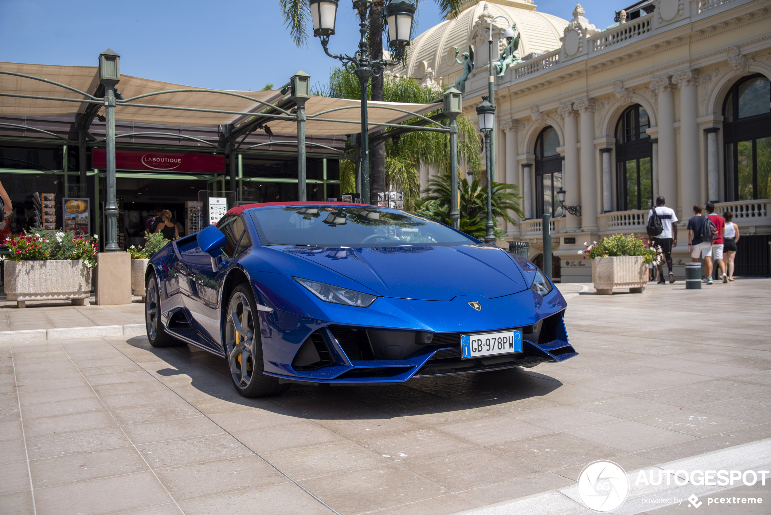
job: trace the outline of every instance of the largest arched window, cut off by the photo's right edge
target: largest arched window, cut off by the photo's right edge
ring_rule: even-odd
[[[731,87],[723,104],[726,202],[771,198],[771,83],[757,74]]]

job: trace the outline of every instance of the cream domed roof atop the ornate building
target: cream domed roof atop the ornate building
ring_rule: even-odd
[[[486,65],[487,29],[484,29],[484,34],[479,34],[480,20],[498,15],[517,23],[517,30],[522,35],[520,47],[515,53],[517,57],[547,53],[561,46],[560,38],[567,20],[537,12],[532,0],[479,2],[469,5],[456,19],[439,23],[413,39],[409,46],[409,59],[405,65],[399,66],[396,73],[422,79],[426,69],[431,68],[437,80],[441,77],[443,83],[452,83],[463,73],[463,66],[455,61],[454,47],[458,47],[462,54],[468,52],[470,45],[476,46],[475,53],[482,58],[476,59],[475,68]],[[500,32],[502,36],[505,29],[507,23],[503,19],[493,22],[493,35]],[[484,44],[480,45],[480,42]],[[499,46],[500,52],[506,46],[506,40],[501,39]]]

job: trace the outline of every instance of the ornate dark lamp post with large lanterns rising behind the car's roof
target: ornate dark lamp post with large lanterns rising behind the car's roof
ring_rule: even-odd
[[[338,59],[345,71],[354,73],[359,77],[362,93],[362,202],[369,204],[369,124],[367,123],[367,86],[370,77],[382,76],[386,66],[396,66],[402,62],[404,47],[409,45],[409,33],[412,28],[412,18],[415,15],[415,5],[409,2],[391,2],[385,8],[385,19],[388,23],[389,40],[392,46],[396,46],[396,61],[389,62],[385,59],[372,61],[372,53],[369,52],[367,42],[367,9],[372,7],[372,0],[353,0],[353,8],[359,11],[359,50],[352,56],[335,55],[329,53],[327,45],[329,36],[335,34],[335,20],[337,18],[337,0],[309,0],[311,7],[311,19],[313,20],[313,33],[322,40],[324,52]]]

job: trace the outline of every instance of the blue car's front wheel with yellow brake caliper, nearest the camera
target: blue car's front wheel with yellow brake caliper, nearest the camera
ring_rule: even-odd
[[[225,316],[225,356],[236,391],[244,397],[281,395],[290,385],[265,375],[260,321],[254,294],[248,284],[235,287]]]

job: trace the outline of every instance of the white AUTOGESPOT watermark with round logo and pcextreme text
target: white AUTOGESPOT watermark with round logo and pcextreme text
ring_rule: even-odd
[[[754,486],[760,482],[766,486],[766,479],[771,472],[768,470],[664,470],[664,469],[643,469],[638,473],[635,487],[645,486]],[[611,461],[604,459],[589,463],[578,476],[577,484],[578,496],[581,502],[589,510],[599,513],[608,513],[621,507],[627,499],[630,484],[624,469]],[[756,492],[742,492],[748,494]],[[681,494],[681,495],[678,495]],[[763,498],[760,496],[736,495],[739,492],[721,493],[719,490],[714,492],[703,492],[700,495],[705,496],[699,500],[699,496],[687,492],[659,492],[650,497],[637,497],[642,505],[653,505],[661,507],[663,505],[681,505],[687,501],[689,508],[699,508],[706,504],[763,504]],[[669,496],[667,496],[669,495]],[[687,497],[686,497],[687,496]]]

